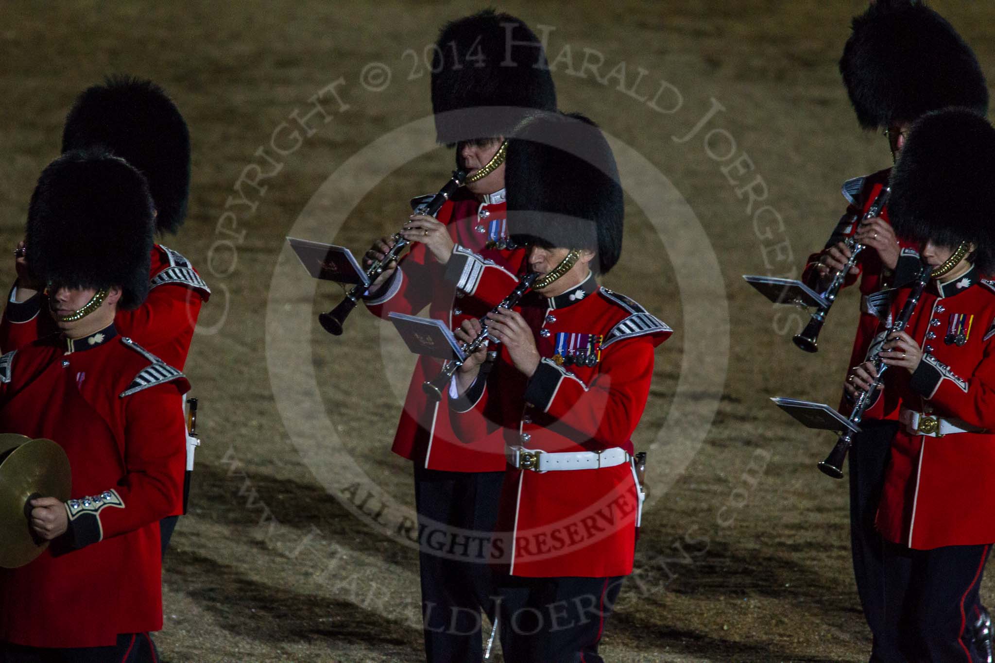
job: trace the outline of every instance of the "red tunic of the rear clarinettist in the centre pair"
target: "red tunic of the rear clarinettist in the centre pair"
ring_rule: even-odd
[[[467,318],[487,314],[514,287],[517,281],[514,274],[524,263],[522,249],[489,250],[489,258],[480,255],[489,239],[489,226],[502,220],[504,214],[503,191],[479,203],[469,192],[461,190],[436,215],[447,225],[450,237],[457,244],[449,261],[443,265],[425,245],[415,244],[401,258],[395,276],[366,300],[367,308],[374,315],[386,318],[391,312],[414,315],[428,306],[430,317],[445,321],[452,329]],[[511,285],[499,295],[481,296],[478,284],[488,271],[501,272]],[[422,383],[438,375],[442,367],[442,362],[436,359],[419,357],[392,450],[424,463],[429,469],[456,472],[504,469],[503,443],[498,436],[471,444],[457,441],[449,410],[429,401],[422,391]]]

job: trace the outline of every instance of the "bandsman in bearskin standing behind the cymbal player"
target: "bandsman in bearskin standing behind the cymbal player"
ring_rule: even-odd
[[[190,136],[186,122],[165,91],[150,81],[111,78],[87,88],[77,97],[63,129],[63,151],[100,147],[137,168],[148,180],[155,203],[159,235],[175,235],[186,218],[190,190]],[[28,256],[16,256],[18,279],[0,321],[0,348],[17,350],[52,333],[55,323],[47,314],[41,286],[28,274]],[[149,292],[133,310],[119,310],[114,321],[119,333],[134,339],[182,370],[190,352],[194,328],[210,288],[190,261],[163,245],[149,251]],[[185,480],[193,470],[197,441],[187,438]],[[162,522],[165,551],[177,518],[186,511],[186,495]]]

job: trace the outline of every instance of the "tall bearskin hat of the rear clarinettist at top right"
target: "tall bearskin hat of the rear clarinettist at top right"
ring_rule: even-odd
[[[988,111],[988,85],[974,53],[920,0],[877,0],[855,17],[840,73],[865,129],[947,106]]]

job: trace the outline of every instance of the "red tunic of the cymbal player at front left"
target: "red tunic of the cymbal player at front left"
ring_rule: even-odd
[[[182,492],[189,384],[112,326],[90,338],[0,359],[0,430],[54,439],[73,471],[67,534],[0,569],[0,642],[97,647],[162,627],[159,520]]]

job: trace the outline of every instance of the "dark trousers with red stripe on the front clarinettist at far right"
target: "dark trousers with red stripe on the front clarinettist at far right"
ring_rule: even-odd
[[[990,545],[884,548],[885,639],[880,660],[975,663],[971,625]]]

